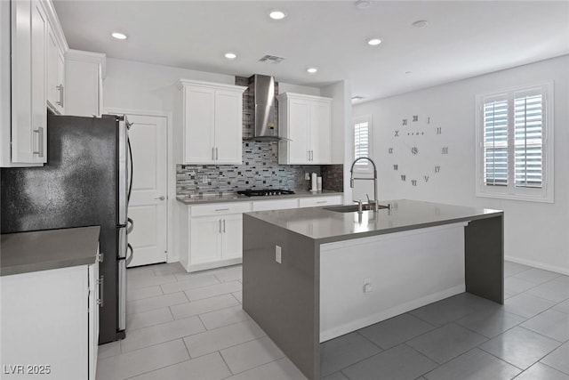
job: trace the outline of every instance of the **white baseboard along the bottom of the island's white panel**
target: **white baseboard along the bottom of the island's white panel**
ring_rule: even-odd
[[[424,297],[418,298],[407,303],[402,303],[393,307],[391,309],[377,312],[373,315],[367,316],[362,319],[352,320],[349,323],[343,324],[338,327],[328,329],[326,331],[320,332],[320,343],[333,339],[337,336],[343,336],[349,332],[355,331],[359,328],[373,325],[374,323],[381,322],[382,320],[396,317],[399,314],[403,314],[407,311],[412,311],[421,306],[428,305],[429,303],[436,303],[437,301],[444,300],[453,295],[460,295],[466,291],[464,285],[459,285],[457,287],[451,287],[443,291],[437,292],[434,295],[426,295]]]

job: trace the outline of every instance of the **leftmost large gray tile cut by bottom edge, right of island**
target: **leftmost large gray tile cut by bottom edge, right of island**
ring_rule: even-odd
[[[401,344],[343,369],[342,372],[350,380],[408,380],[436,367],[434,361]]]

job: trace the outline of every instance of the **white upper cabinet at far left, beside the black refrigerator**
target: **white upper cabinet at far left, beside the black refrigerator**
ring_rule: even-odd
[[[0,166],[42,166],[50,84],[63,84],[62,64],[48,61],[67,49],[52,2],[1,1],[0,41]]]

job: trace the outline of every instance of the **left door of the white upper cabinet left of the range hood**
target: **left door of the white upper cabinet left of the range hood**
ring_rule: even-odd
[[[184,88],[184,163],[214,164],[215,90]]]

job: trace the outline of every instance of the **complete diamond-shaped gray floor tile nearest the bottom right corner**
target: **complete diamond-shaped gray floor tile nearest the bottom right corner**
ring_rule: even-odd
[[[524,327],[514,327],[500,336],[481,344],[479,348],[490,352],[501,360],[506,360],[517,368],[530,368],[549,352],[555,350],[559,342],[541,336]]]

